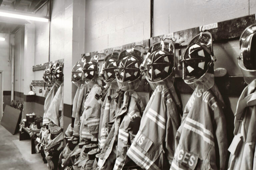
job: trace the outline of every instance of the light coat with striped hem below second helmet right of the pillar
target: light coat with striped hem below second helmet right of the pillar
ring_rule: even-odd
[[[85,120],[91,134],[99,132],[100,104],[95,98],[95,95],[98,94],[100,96],[101,92],[102,90],[99,86],[94,86],[84,104]]]

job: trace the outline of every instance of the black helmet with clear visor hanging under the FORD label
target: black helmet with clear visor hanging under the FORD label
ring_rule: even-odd
[[[142,74],[140,64],[143,53],[137,49],[126,49],[119,54],[116,78],[121,90],[135,90],[140,84]]]

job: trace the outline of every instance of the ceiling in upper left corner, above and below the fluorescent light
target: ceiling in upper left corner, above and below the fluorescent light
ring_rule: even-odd
[[[0,9],[33,13],[48,0],[0,0]],[[16,33],[26,20],[0,17],[0,33]]]

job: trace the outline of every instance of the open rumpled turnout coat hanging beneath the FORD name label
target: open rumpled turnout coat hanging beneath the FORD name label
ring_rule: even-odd
[[[126,153],[139,130],[144,108],[141,98],[135,91],[124,93],[123,104],[119,113],[116,113],[113,126],[100,153],[100,170],[122,169],[125,164],[133,163]]]

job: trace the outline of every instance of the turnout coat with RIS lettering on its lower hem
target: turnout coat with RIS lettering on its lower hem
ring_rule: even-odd
[[[181,123],[166,86],[158,85],[140,123],[127,155],[143,169],[169,169],[175,151],[175,135]]]

